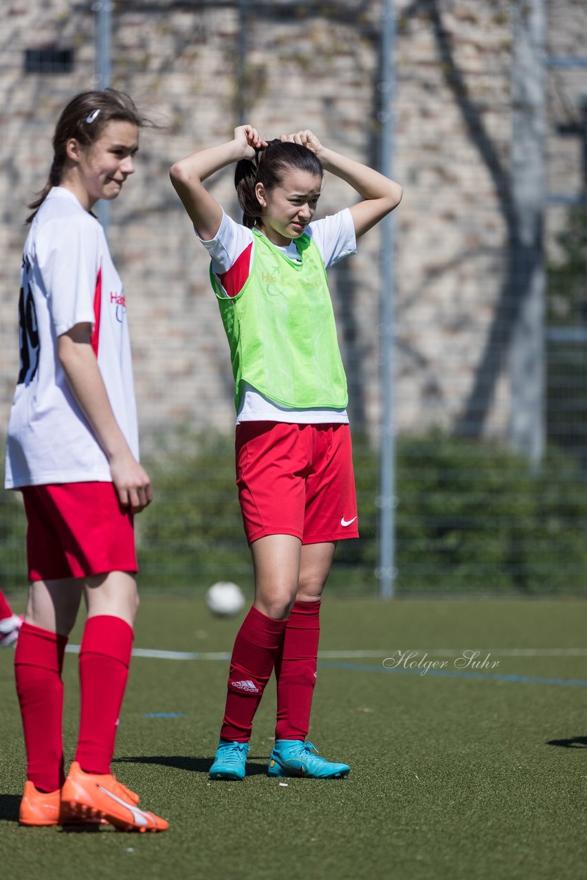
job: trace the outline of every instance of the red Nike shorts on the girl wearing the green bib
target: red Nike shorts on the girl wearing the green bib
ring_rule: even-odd
[[[241,422],[236,453],[249,544],[281,534],[303,544],[358,538],[349,425]]]

